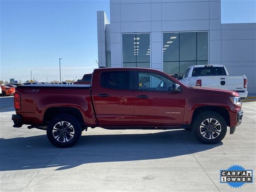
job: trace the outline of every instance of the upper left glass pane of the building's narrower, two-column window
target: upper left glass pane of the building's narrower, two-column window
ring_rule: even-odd
[[[135,34],[122,34],[122,55],[123,55],[123,62],[136,62],[136,50],[134,51],[134,44],[136,37]]]

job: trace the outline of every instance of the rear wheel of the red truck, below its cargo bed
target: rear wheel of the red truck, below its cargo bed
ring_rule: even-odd
[[[82,134],[79,121],[69,114],[55,116],[48,124],[46,133],[49,141],[60,148],[73,146]]]

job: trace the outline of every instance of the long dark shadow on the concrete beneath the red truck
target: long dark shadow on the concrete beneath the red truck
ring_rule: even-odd
[[[170,158],[221,146],[200,143],[190,131],[82,136],[72,148],[56,148],[46,135],[0,139],[0,171]]]

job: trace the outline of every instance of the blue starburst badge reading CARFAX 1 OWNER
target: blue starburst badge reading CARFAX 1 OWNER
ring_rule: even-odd
[[[233,165],[227,170],[220,170],[220,182],[228,183],[234,188],[252,183],[252,179],[252,170],[246,170],[240,165]]]

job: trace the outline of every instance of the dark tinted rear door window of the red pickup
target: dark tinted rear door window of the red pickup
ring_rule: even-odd
[[[128,71],[109,71],[102,72],[100,85],[113,89],[131,89],[130,72]]]

